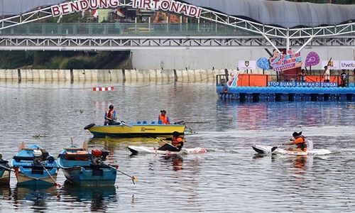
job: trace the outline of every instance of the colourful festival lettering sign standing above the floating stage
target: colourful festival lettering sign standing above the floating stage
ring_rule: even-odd
[[[270,65],[273,71],[290,70],[296,67],[302,67],[301,53],[293,53],[293,50],[288,50],[287,54],[273,52],[273,57],[270,58]]]

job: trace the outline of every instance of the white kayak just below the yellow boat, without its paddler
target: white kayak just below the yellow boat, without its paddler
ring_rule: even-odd
[[[165,155],[180,155],[180,154],[202,154],[207,153],[205,148],[196,147],[196,148],[182,148],[181,151],[174,152],[174,151],[160,151],[154,147],[148,146],[128,146],[129,151],[133,154],[138,153],[155,153],[155,154],[165,154]]]

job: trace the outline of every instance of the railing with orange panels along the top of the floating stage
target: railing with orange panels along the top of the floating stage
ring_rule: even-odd
[[[339,87],[355,87],[355,75],[346,76],[331,75],[329,81],[324,75],[258,75],[258,74],[239,74],[237,77],[229,75],[217,75],[216,85],[217,87],[226,87],[227,84],[237,87],[268,87],[269,82],[329,82],[337,83]],[[309,87],[309,86],[305,86]]]

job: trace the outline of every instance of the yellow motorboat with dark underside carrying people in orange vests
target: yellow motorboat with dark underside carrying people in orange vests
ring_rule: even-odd
[[[89,124],[84,127],[94,137],[149,137],[149,136],[172,136],[174,131],[184,134],[185,125],[181,124],[120,124],[120,125],[95,125]]]

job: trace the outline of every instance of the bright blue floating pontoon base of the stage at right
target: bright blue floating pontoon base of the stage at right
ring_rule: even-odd
[[[217,86],[222,99],[241,102],[355,101],[355,87],[224,87]]]

